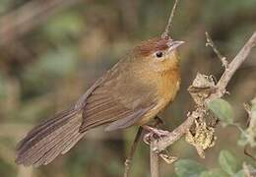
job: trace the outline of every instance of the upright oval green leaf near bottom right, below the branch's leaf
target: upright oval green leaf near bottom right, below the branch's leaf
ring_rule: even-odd
[[[219,164],[229,175],[233,175],[237,171],[238,163],[233,154],[228,150],[221,151],[219,156]]]

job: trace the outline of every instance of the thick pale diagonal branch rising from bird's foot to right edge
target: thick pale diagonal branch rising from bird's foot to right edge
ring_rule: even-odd
[[[223,76],[221,77],[220,81],[216,85],[216,91],[210,93],[208,98],[204,99],[203,105],[206,105],[213,99],[222,97],[225,93],[225,87],[227,86],[228,82],[230,81],[231,77],[235,73],[235,71],[240,67],[240,65],[244,62],[246,57],[249,55],[251,49],[256,45],[256,31],[254,31],[253,35],[250,39],[245,43],[239,53],[234,57],[232,62],[228,65],[225,69]],[[192,113],[187,115],[187,119],[174,131],[170,132],[169,135],[163,137],[159,140],[159,142],[155,145],[155,151],[162,151],[168,146],[172,145],[174,142],[179,140],[187,131],[191,128],[194,121],[197,118],[202,118],[206,114],[206,108],[204,106],[198,106],[196,110]]]

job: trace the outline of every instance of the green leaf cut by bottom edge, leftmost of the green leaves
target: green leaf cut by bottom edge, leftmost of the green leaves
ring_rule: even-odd
[[[178,160],[174,169],[178,177],[197,177],[206,170],[202,164],[190,159]]]

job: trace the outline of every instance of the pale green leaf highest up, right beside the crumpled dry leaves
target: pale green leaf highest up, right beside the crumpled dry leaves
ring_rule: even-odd
[[[225,125],[233,123],[233,110],[226,100],[222,98],[214,99],[208,103],[208,108],[213,111]]]

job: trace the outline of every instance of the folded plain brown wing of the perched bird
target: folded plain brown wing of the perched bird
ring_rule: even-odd
[[[130,127],[157,103],[155,89],[118,68],[93,88],[84,101],[81,132],[107,124],[107,131]]]

